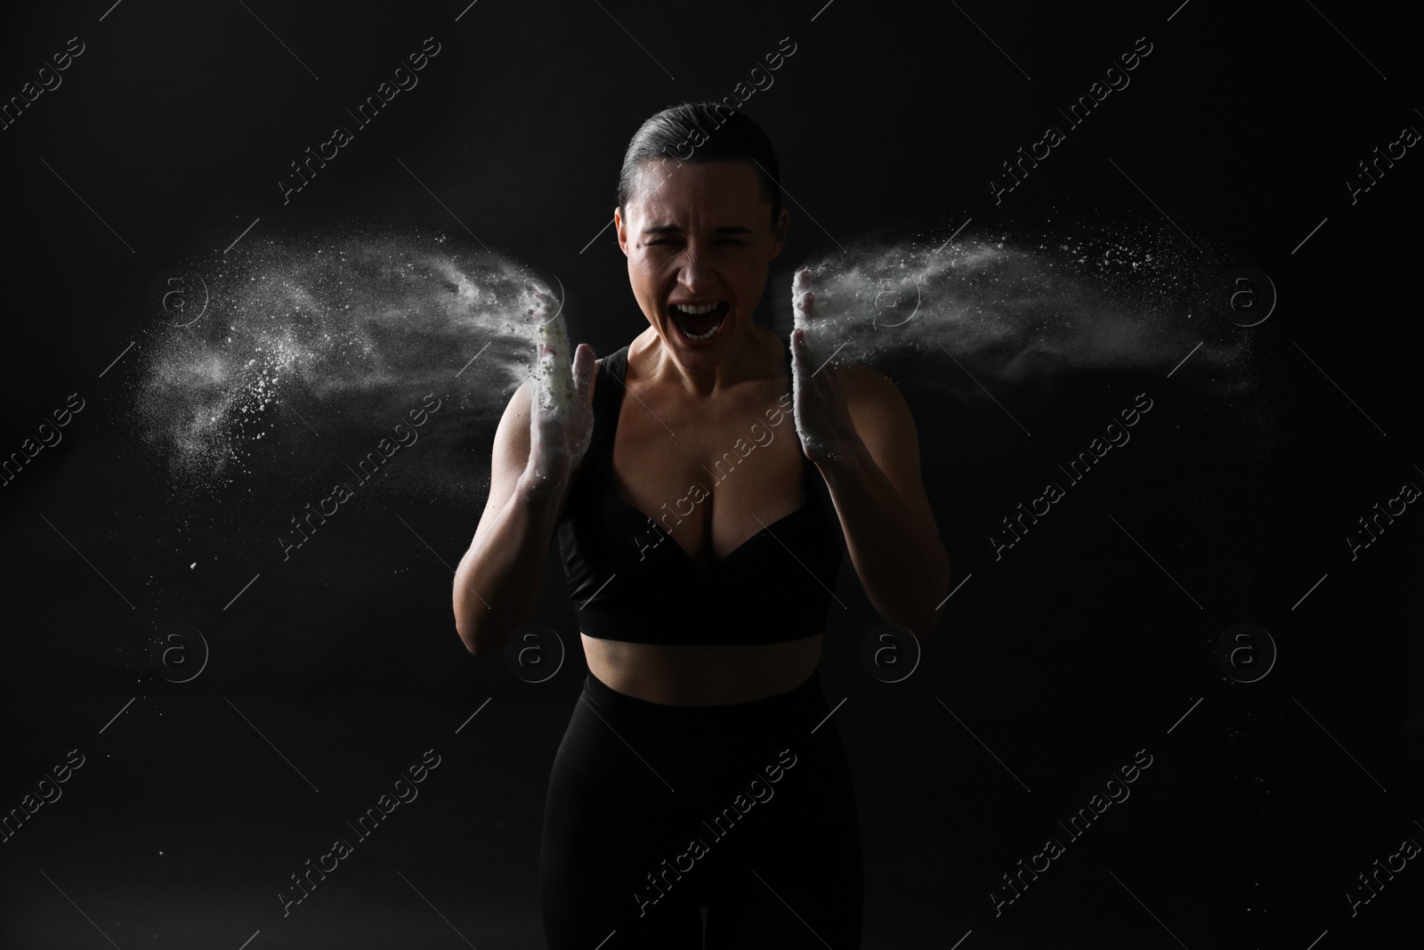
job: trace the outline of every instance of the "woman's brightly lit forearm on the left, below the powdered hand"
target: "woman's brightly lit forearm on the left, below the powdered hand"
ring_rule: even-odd
[[[454,573],[456,630],[483,657],[504,647],[528,622],[567,486],[537,486],[521,476],[490,528],[477,537]]]

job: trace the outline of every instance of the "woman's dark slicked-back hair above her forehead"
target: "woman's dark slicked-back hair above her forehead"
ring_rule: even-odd
[[[702,141],[693,145],[696,135]],[[722,103],[682,103],[671,105],[634,132],[618,174],[618,207],[627,209],[634,194],[638,165],[668,158],[676,162],[752,161],[760,167],[762,197],[772,205],[772,224],[782,212],[782,177],[776,150],[762,127],[746,113]]]

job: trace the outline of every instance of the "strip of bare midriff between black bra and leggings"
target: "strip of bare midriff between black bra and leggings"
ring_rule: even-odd
[[[581,634],[588,671],[618,692],[671,706],[722,706],[802,685],[824,634],[778,644],[635,644]]]

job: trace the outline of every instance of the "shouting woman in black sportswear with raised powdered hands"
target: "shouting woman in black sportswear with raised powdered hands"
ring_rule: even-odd
[[[948,558],[893,383],[752,322],[786,241],[778,175],[743,114],[644,122],[614,222],[649,326],[602,360],[580,345],[567,423],[514,393],[456,573],[461,640],[498,651],[558,531],[590,675],[545,800],[554,950],[701,947],[703,926],[706,947],[860,944],[854,793],[816,672],[840,543],[917,637]]]

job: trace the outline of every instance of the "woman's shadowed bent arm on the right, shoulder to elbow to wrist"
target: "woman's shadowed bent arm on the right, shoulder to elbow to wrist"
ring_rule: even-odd
[[[914,417],[879,369],[850,365],[842,372],[856,437],[816,467],[870,602],[891,624],[926,637],[950,591],[950,555],[924,494]]]

